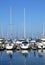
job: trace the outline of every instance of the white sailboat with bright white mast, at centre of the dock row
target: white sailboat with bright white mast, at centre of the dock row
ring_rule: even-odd
[[[22,44],[20,45],[21,49],[29,49],[30,44],[26,41],[26,32],[25,32],[25,8],[24,8],[24,39],[22,41]]]

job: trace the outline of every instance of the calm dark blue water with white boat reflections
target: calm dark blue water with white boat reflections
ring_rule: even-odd
[[[45,65],[45,50],[0,51],[0,65]]]

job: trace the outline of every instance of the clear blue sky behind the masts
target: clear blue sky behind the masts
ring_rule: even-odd
[[[0,0],[0,36],[1,31],[4,36],[10,35],[10,7],[12,8],[12,35],[14,37],[23,37],[24,8],[26,37],[42,35],[42,24],[45,24],[45,0]]]

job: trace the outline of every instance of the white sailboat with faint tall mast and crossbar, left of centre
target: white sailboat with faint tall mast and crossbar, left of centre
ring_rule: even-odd
[[[12,8],[10,7],[10,25],[12,25],[12,15],[11,14],[12,14]],[[11,26],[10,33],[12,34],[12,26]],[[12,42],[12,39],[7,40],[6,43],[7,43],[6,44],[6,49],[8,49],[8,50],[14,49],[14,44]]]

